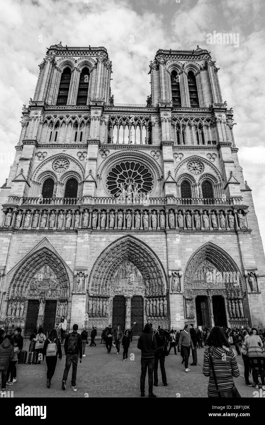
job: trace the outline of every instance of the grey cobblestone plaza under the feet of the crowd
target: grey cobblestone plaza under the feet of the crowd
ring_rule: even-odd
[[[180,353],[166,357],[166,376],[168,386],[161,382],[161,373],[158,367],[158,387],[154,393],[158,397],[207,397],[208,379],[203,375],[204,348],[197,349],[197,366],[191,366],[191,371],[185,373],[181,364]],[[56,371],[51,381],[51,388],[46,387],[46,362],[40,365],[17,365],[17,382],[8,386],[7,390],[14,391],[14,397],[140,397],[141,352],[137,342],[133,341],[129,348],[128,357],[134,360],[122,361],[122,349],[116,354],[112,347],[107,355],[106,347],[97,342],[96,347],[86,346],[86,357],[77,367],[77,391],[71,389],[71,369],[66,383],[66,391],[62,391],[62,374],[65,366],[65,355],[62,361],[57,361]],[[189,357],[192,363],[192,356]],[[242,397],[253,397],[255,388],[245,385],[242,357],[237,356],[240,367],[240,377],[234,382]],[[146,377],[146,394],[148,382]],[[178,395],[179,394],[179,395]]]

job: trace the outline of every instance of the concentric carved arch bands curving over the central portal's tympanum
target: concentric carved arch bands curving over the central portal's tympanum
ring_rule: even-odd
[[[166,295],[168,281],[163,264],[147,244],[132,235],[116,239],[101,252],[90,272],[88,292],[91,295],[109,294],[111,279],[127,260],[140,270],[147,296]]]

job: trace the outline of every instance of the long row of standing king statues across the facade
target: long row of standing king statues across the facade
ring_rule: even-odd
[[[78,199],[78,198],[76,198]],[[111,199],[111,198],[108,198]],[[21,204],[3,206],[2,228],[24,230],[237,230],[249,229],[246,206],[241,209],[226,206],[203,205],[175,207],[161,205],[85,205]]]

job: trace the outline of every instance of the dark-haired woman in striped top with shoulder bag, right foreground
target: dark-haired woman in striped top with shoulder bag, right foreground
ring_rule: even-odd
[[[203,374],[209,377],[208,397],[219,397],[218,391],[230,391],[234,388],[233,377],[238,377],[240,371],[234,352],[229,348],[228,340],[219,326],[213,327],[207,339],[207,344],[209,348],[204,350]],[[218,391],[214,382],[211,360]],[[234,392],[238,394],[236,388]],[[240,395],[238,394],[237,397],[240,397]]]

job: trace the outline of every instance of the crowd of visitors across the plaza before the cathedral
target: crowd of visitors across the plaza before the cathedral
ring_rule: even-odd
[[[62,324],[64,325],[63,329]],[[16,364],[23,355],[22,330],[18,327],[9,335],[0,329],[0,374],[2,379],[1,393],[5,394],[7,385],[17,382]],[[96,327],[90,333],[89,347],[96,347]],[[43,329],[34,329],[30,336],[29,354],[34,354],[31,363],[40,364],[45,358],[47,365],[47,388],[51,387],[57,360],[62,360],[62,343],[65,351],[65,369],[62,376],[62,390],[66,389],[68,372],[72,365],[71,387],[76,390],[76,372],[78,360],[81,363],[85,357],[85,348],[88,344],[87,329],[78,333],[78,325],[73,325],[73,331],[66,333],[65,318],[56,323],[55,328],[45,337]],[[133,329],[121,330],[120,326],[114,330],[111,325],[101,333],[101,342],[111,353],[116,348],[116,354],[123,348],[123,361],[128,360],[128,349],[133,340]],[[162,384],[167,386],[165,359],[172,348],[174,354],[180,353],[181,364],[184,364],[188,373],[189,357],[192,354],[191,366],[197,366],[197,349],[205,348],[203,357],[203,374],[209,377],[208,397],[220,397],[220,393],[228,392],[228,397],[240,397],[234,385],[233,377],[240,374],[236,356],[242,356],[244,364],[245,385],[265,390],[265,332],[262,334],[255,328],[229,329],[214,326],[210,329],[197,329],[190,323],[184,329],[152,328],[152,323],[144,326],[143,333],[138,338],[137,348],[141,350],[141,397],[145,396],[145,378],[148,372],[148,397],[156,397],[153,386],[158,386],[158,365],[161,370]],[[204,344],[204,346],[203,346]],[[241,346],[241,352],[240,352]],[[171,351],[172,354],[172,351]],[[29,357],[30,358],[30,357]],[[23,363],[23,362],[22,362]],[[253,382],[250,381],[252,372]],[[259,378],[261,383],[259,382]],[[231,395],[233,394],[233,395]]]

